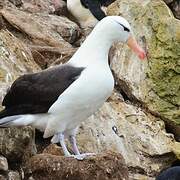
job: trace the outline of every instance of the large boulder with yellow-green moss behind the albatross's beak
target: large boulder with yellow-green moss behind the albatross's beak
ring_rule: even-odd
[[[164,2],[156,0],[117,0],[108,14],[123,15],[148,50],[148,59],[142,62],[128,47],[116,46],[111,66],[118,86],[128,99],[165,120],[180,139],[180,22]]]

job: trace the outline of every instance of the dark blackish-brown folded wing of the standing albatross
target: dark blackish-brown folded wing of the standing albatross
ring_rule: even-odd
[[[45,113],[81,74],[84,68],[61,65],[19,77],[7,92],[0,118],[17,114]]]

